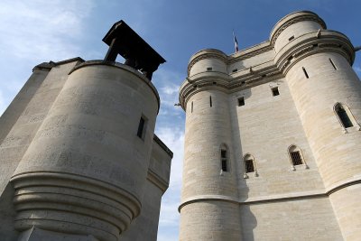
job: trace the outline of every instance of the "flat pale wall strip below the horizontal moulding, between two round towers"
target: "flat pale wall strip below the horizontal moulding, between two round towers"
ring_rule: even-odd
[[[243,240],[343,240],[329,199],[241,205]]]

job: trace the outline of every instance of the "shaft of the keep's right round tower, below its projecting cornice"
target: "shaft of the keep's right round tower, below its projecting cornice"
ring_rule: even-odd
[[[330,59],[334,61],[337,70]],[[305,77],[302,68],[310,74],[309,79]],[[326,189],[336,189],[335,193],[330,194],[330,200],[343,236],[346,240],[357,240],[356,236],[361,236],[361,219],[353,217],[359,213],[355,199],[360,197],[360,184],[345,190],[338,188],[359,181],[360,126],[354,121],[354,126],[344,129],[334,107],[337,103],[345,104],[355,117],[351,116],[351,119],[361,119],[359,79],[347,60],[332,52],[300,60],[288,72],[287,79]]]

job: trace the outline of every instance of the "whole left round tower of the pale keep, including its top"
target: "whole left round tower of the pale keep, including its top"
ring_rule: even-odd
[[[199,51],[180,88],[187,126],[180,204],[184,241],[241,239],[226,60],[221,51]],[[225,220],[227,227],[220,226]]]

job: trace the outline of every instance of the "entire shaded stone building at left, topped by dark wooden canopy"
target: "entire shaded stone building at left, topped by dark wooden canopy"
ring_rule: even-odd
[[[165,60],[123,21],[103,41],[105,60],[36,66],[1,117],[2,241],[156,240],[172,153],[150,80]]]

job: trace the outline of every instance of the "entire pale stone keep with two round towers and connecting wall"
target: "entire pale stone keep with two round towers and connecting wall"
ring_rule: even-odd
[[[180,240],[360,240],[355,49],[307,11],[269,41],[199,51],[186,112]]]

